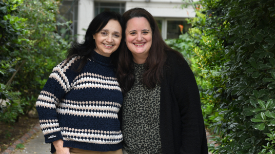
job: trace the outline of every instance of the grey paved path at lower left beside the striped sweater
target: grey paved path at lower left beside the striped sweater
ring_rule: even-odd
[[[25,149],[18,149],[14,154],[25,154],[25,153],[37,153],[37,154],[51,154],[50,144],[45,143],[44,134],[42,131],[38,131],[36,134],[33,134],[33,139],[30,139],[25,145]]]

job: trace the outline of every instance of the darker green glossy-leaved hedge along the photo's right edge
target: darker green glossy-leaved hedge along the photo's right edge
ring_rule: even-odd
[[[232,101],[227,111],[220,112],[224,114],[221,145],[211,149],[214,153],[274,153],[274,143],[268,141],[275,128],[274,1],[230,1],[223,12],[230,24],[226,32],[231,45],[225,47],[230,61],[222,75],[228,78],[226,93]]]

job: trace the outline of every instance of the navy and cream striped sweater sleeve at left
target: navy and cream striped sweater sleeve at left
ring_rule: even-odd
[[[57,119],[57,106],[67,91],[67,76],[61,68],[62,64],[53,68],[43,90],[36,101],[40,127],[44,133],[45,143],[63,139]]]

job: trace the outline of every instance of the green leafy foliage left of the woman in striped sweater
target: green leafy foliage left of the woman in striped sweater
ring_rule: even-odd
[[[69,46],[56,30],[64,25],[55,19],[60,1],[9,0],[0,5],[0,121],[10,123],[35,107]]]

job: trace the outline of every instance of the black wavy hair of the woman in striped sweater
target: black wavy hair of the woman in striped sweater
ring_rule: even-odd
[[[124,40],[124,22],[122,20],[122,16],[120,13],[111,12],[111,11],[104,11],[99,15],[96,15],[93,20],[91,21],[86,34],[85,40],[81,43],[78,43],[76,40],[71,43],[71,47],[67,51],[67,63],[72,59],[72,57],[76,55],[80,55],[82,58],[78,60],[76,63],[73,63],[72,68],[75,72],[80,72],[85,64],[87,63],[88,57],[92,56],[92,51],[95,48],[95,40],[93,39],[93,35],[100,32],[110,20],[115,20],[120,23],[122,27],[122,40]],[[118,59],[119,48],[116,49],[115,52],[111,54],[112,64],[116,66],[116,61]]]

